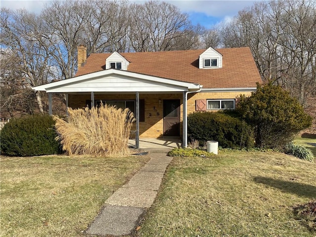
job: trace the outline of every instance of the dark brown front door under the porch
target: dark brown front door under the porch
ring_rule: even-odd
[[[180,100],[163,100],[163,136],[180,136]]]

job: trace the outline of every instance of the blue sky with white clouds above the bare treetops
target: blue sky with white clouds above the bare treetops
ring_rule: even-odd
[[[133,2],[144,2],[133,0]],[[165,0],[176,5],[182,12],[188,13],[193,24],[211,28],[222,21],[230,21],[239,10],[251,6],[258,0]],[[11,9],[26,8],[39,13],[49,0],[0,0],[1,7]]]

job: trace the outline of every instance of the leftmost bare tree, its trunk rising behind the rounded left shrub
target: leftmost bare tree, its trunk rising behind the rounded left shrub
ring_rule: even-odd
[[[1,8],[1,46],[16,59],[12,79],[23,80],[29,86],[47,83],[52,75],[48,52],[39,41],[38,33],[42,31],[40,22],[39,16],[26,10]],[[17,74],[19,77],[16,77]],[[43,113],[42,96],[39,91],[34,93],[39,110]]]

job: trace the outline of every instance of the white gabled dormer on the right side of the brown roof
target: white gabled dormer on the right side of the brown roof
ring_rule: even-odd
[[[198,57],[198,68],[199,69],[215,69],[222,68],[223,55],[212,47],[206,49]]]

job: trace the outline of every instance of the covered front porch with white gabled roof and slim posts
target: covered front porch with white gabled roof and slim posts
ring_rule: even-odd
[[[112,103],[114,101],[118,103],[118,100],[121,100],[120,102],[125,101],[125,103],[132,100],[135,103],[133,112],[136,122],[134,144],[131,144],[131,146],[136,149],[146,149],[149,148],[149,145],[152,145],[162,149],[187,146],[188,93],[199,92],[201,86],[195,83],[109,69],[48,83],[33,87],[33,89],[48,93],[50,114],[52,114],[52,93],[65,93],[66,106],[73,109],[82,108],[86,105],[93,107],[101,100],[108,100]],[[118,96],[120,97],[118,98]],[[83,101],[82,105],[75,103],[75,100],[79,100],[79,98],[81,98],[81,104]],[[172,108],[172,104],[176,104],[177,108]],[[165,109],[167,107],[169,109]],[[145,117],[140,114],[142,109],[145,111]],[[182,138],[182,142],[169,142],[168,140],[171,139],[172,141],[174,137],[165,132],[165,126],[168,122],[170,129],[174,125],[172,123],[173,118],[170,118],[172,117],[170,115],[175,113],[178,114],[178,129],[180,129],[181,123],[181,132],[178,133],[176,139]],[[140,118],[144,120],[140,121]],[[160,130],[163,130],[163,133]],[[158,131],[160,134],[157,135]],[[142,133],[140,134],[140,132]],[[153,135],[151,136],[151,134]],[[143,140],[145,138],[155,138],[156,140]]]

